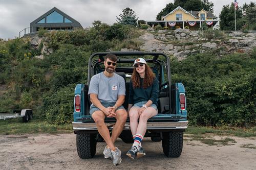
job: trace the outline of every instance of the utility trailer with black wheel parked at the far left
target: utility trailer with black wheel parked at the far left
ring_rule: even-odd
[[[23,122],[27,123],[33,117],[33,112],[31,109],[13,110],[13,113],[0,112],[0,120],[7,118],[17,118],[22,117]]]

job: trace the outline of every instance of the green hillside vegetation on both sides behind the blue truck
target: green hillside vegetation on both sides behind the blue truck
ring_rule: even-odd
[[[131,26],[109,26],[95,21],[93,28],[87,30],[40,30],[41,40],[37,46],[26,37],[0,41],[0,111],[31,108],[42,121],[56,125],[72,122],[74,88],[77,83],[87,83],[90,55],[123,49],[143,50],[144,42],[138,37],[145,32]],[[157,31],[152,34],[158,35]],[[182,40],[174,42],[192,45]],[[206,49],[188,54],[182,60],[168,55],[172,61],[173,82],[185,85],[191,124],[255,125],[255,47],[248,53],[223,55]]]

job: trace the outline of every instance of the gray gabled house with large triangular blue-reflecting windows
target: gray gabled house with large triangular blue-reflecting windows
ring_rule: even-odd
[[[54,7],[30,23],[30,33],[38,31],[39,28],[46,30],[73,30],[74,28],[82,29],[82,26],[74,18]]]

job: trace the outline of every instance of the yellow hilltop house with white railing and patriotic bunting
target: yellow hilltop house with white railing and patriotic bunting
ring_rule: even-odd
[[[146,21],[148,25],[161,25],[162,27],[176,27],[196,30],[201,28],[203,24],[213,27],[218,22],[210,11],[186,11],[181,7],[177,7],[167,15],[162,16],[162,20]]]

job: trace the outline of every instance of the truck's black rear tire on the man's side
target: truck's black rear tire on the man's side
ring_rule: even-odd
[[[96,134],[77,133],[76,134],[76,149],[78,156],[81,159],[94,157],[96,153]]]

